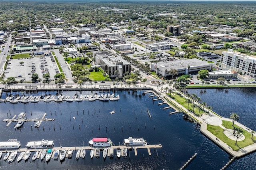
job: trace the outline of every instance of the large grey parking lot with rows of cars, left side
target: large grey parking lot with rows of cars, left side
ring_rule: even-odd
[[[23,62],[23,64],[20,64],[20,62]],[[54,75],[56,75],[56,71],[59,71],[58,67],[54,57],[51,57],[50,55],[34,58],[11,59],[4,71],[4,79],[7,79],[8,77],[15,77],[16,81],[20,81],[22,79],[31,81],[33,73],[37,73],[41,79],[44,74],[49,73],[50,79],[53,80]]]

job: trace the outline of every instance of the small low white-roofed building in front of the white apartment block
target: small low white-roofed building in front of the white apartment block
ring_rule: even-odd
[[[236,78],[238,73],[236,71],[230,71],[230,70],[218,70],[218,71],[212,71],[209,72],[208,78],[209,79],[218,79],[220,77],[224,79],[233,79]]]

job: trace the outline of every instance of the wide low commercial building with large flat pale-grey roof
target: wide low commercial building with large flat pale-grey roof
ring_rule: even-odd
[[[203,69],[212,69],[212,64],[200,59],[182,59],[169,62],[152,63],[151,69],[163,77],[172,76],[171,69],[176,69],[178,74],[190,74]]]

